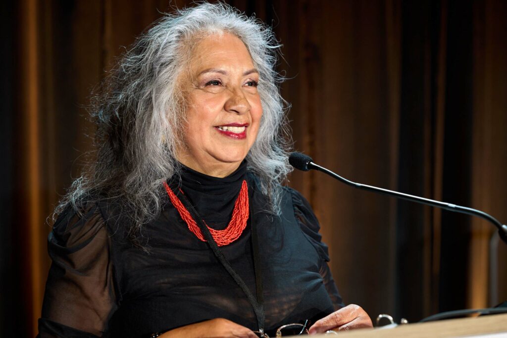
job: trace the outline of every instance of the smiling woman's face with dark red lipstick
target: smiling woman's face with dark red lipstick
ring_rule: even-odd
[[[198,43],[189,74],[182,81],[186,148],[178,149],[177,159],[202,173],[227,176],[246,157],[259,131],[259,73],[243,42],[223,33]]]

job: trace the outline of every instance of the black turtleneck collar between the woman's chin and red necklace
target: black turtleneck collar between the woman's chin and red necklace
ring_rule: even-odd
[[[245,160],[229,176],[213,177],[182,165],[180,188],[208,227],[222,230],[229,224],[246,167]]]

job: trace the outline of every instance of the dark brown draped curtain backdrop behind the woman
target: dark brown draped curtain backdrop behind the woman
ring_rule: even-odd
[[[184,7],[189,1],[172,1]],[[507,222],[507,3],[229,1],[274,27],[295,148],[361,183]],[[33,337],[47,218],[90,149],[89,92],[168,1],[2,2],[0,336]],[[417,321],[507,299],[507,246],[464,215],[318,172],[310,201],[346,303]],[[497,261],[493,271],[489,261]]]

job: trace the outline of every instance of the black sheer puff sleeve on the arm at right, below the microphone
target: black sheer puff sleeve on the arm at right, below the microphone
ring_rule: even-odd
[[[292,195],[294,214],[301,231],[320,256],[321,264],[319,272],[320,276],[322,276],[325,289],[331,297],[335,310],[343,308],[345,304],[338,292],[331,269],[328,266],[328,262],[330,261],[329,250],[328,246],[322,242],[322,236],[319,234],[320,225],[317,216],[313,213],[310,203],[299,192],[294,189],[289,189],[289,191]]]

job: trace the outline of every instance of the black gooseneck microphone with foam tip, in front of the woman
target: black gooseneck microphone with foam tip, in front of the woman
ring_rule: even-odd
[[[311,157],[301,154],[301,153],[292,153],[288,157],[288,163],[290,163],[294,168],[302,170],[302,171],[308,171],[310,169],[315,169],[315,170],[321,171],[321,172],[328,174],[329,176],[336,178],[337,180],[339,180],[347,185],[351,185],[357,189],[367,190],[370,192],[374,192],[374,193],[378,193],[378,194],[382,194],[382,195],[387,195],[387,196],[393,196],[396,198],[400,198],[402,200],[421,203],[421,204],[429,205],[432,207],[438,207],[438,208],[442,208],[442,209],[449,210],[449,211],[479,216],[479,217],[484,218],[484,219],[490,221],[491,223],[493,223],[493,225],[498,229],[498,234],[500,235],[500,238],[505,242],[505,244],[507,244],[507,225],[500,223],[496,218],[485,213],[484,211],[473,209],[473,208],[468,208],[468,207],[463,207],[463,206],[452,204],[452,203],[445,203],[445,202],[440,202],[440,201],[436,201],[436,200],[430,200],[430,199],[424,198],[424,197],[404,194],[404,193],[400,193],[400,192],[396,192],[396,191],[392,191],[392,190],[379,188],[379,187],[372,186],[372,185],[352,182],[352,181],[349,181],[348,179],[343,178],[342,176],[332,172],[331,170],[328,170],[324,167],[321,167],[321,166],[315,164]]]

